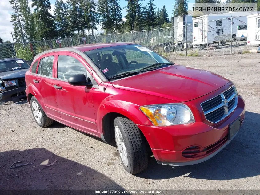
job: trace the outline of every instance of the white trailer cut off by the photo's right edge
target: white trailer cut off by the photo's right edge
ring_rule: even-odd
[[[247,45],[260,44],[260,13],[247,16]]]

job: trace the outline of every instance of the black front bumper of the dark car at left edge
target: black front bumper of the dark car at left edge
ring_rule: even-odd
[[[15,103],[20,101],[20,99],[25,98],[25,89],[26,87],[18,87],[0,93],[0,105],[8,101],[13,101]]]

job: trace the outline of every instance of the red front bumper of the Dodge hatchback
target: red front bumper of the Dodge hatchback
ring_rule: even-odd
[[[156,161],[162,165],[194,165],[210,159],[220,152],[235,136],[228,140],[229,125],[245,117],[245,101],[238,96],[237,108],[218,124],[194,122],[173,126],[137,125],[148,141]],[[187,149],[197,147],[194,156],[186,157]],[[198,152],[199,151],[199,152]]]

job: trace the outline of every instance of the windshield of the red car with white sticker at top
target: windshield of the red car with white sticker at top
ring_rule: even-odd
[[[122,75],[125,72],[140,71],[156,63],[172,63],[141,45],[118,45],[84,53],[101,69],[108,79],[119,74]]]

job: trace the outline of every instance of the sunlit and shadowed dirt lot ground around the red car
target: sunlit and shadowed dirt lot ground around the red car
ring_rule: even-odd
[[[169,58],[233,80],[246,100],[241,131],[216,156],[186,167],[151,158],[145,172],[130,175],[115,144],[59,123],[40,128],[26,101],[10,102],[0,108],[0,189],[260,189],[260,54]],[[34,159],[33,165],[9,169]]]

